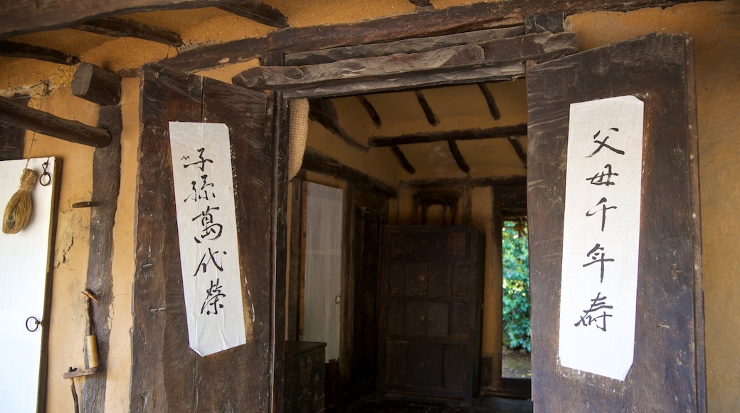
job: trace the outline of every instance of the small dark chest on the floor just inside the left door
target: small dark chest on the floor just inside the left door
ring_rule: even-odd
[[[286,413],[324,411],[324,350],[326,343],[285,342]]]

